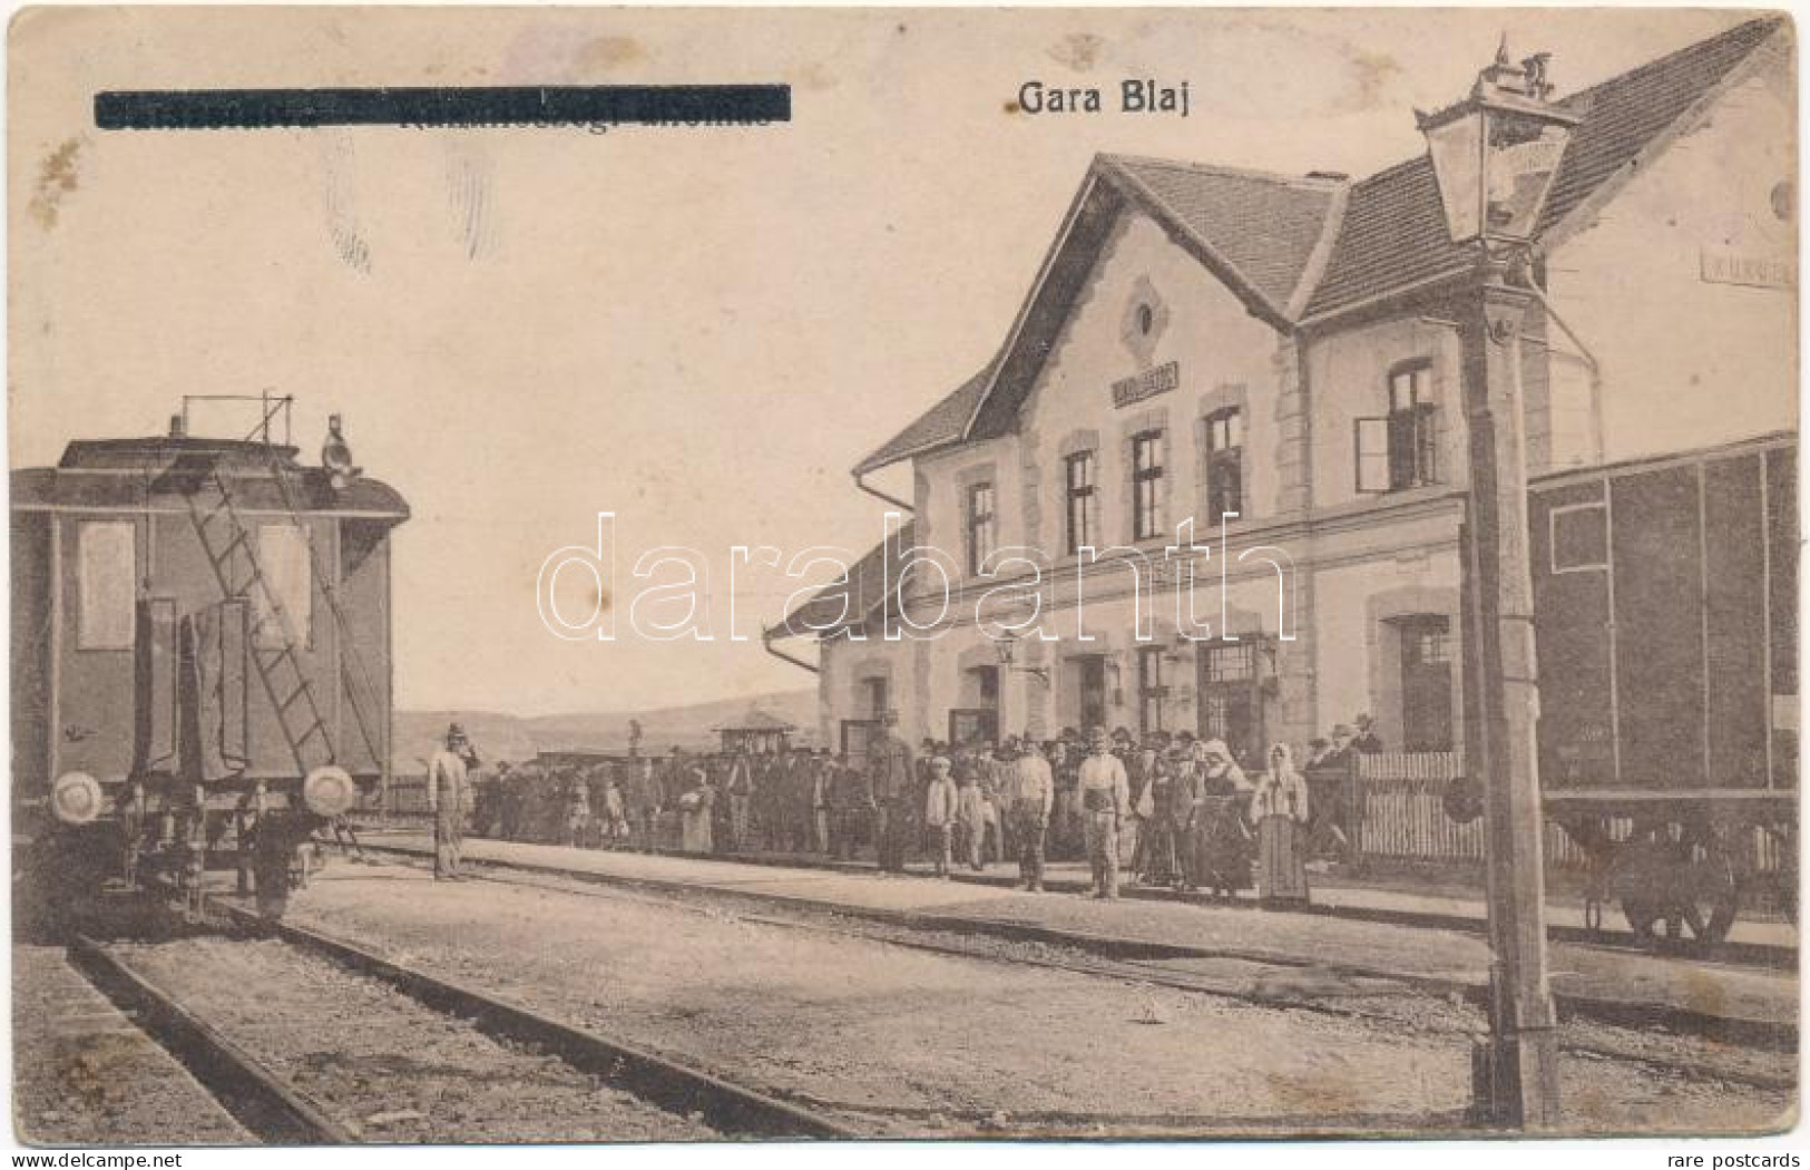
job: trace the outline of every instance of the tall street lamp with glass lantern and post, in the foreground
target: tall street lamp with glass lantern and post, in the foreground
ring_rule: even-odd
[[[1580,120],[1549,98],[1546,54],[1513,65],[1504,40],[1468,98],[1419,114],[1446,228],[1475,257],[1453,293],[1470,436],[1464,647],[1479,692],[1479,717],[1470,721],[1479,743],[1466,746],[1484,784],[1490,902],[1490,1041],[1473,1056],[1472,1079],[1482,1119],[1515,1128],[1558,1123],[1520,388],[1520,328],[1535,299],[1531,243]]]

